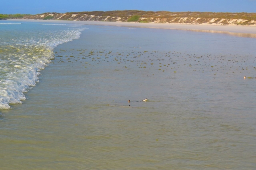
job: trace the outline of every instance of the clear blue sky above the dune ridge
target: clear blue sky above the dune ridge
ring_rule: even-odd
[[[256,0],[3,0],[0,13],[82,11],[256,12]]]

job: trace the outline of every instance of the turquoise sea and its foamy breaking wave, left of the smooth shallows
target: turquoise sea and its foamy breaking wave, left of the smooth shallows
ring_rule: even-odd
[[[35,86],[40,69],[53,58],[53,48],[79,38],[81,25],[0,23],[0,109],[26,99],[24,92]]]

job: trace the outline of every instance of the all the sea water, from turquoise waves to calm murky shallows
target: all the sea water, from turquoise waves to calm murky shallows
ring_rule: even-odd
[[[13,23],[1,169],[255,169],[255,38]]]

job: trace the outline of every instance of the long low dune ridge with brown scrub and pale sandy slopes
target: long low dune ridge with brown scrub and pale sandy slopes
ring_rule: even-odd
[[[224,12],[167,12],[167,11],[93,11],[43,13],[22,15],[22,19],[54,19],[79,21],[116,21],[145,23],[177,23],[202,25],[244,25],[256,26],[256,13],[224,13]]]

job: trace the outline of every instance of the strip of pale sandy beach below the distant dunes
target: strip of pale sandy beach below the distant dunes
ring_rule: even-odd
[[[45,23],[67,23],[83,25],[102,25],[117,27],[139,27],[139,28],[159,28],[177,29],[184,31],[209,32],[229,34],[239,37],[256,38],[255,26],[227,26],[227,25],[203,25],[203,24],[173,24],[173,23],[137,23],[137,22],[109,22],[109,21],[67,21],[67,20],[41,20],[41,19],[7,19],[9,21],[23,22],[45,22]]]

